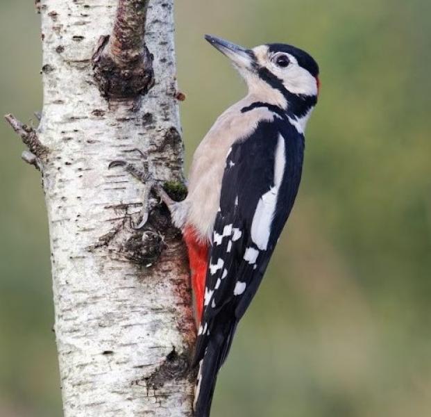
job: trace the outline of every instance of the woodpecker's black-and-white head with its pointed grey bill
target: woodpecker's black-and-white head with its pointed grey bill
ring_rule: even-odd
[[[296,117],[316,104],[319,65],[302,49],[287,44],[245,49],[211,35],[205,39],[232,61],[257,99],[286,108]]]

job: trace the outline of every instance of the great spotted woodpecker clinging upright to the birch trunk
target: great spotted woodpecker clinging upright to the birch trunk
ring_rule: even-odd
[[[183,202],[153,187],[189,251],[198,321],[196,417],[210,416],[217,374],[294,205],[305,125],[319,94],[319,66],[301,49],[244,49],[205,38],[230,58],[248,95],[196,149]]]

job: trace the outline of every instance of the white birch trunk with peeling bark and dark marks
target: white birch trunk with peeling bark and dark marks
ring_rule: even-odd
[[[183,181],[173,0],[151,0],[146,16],[155,84],[117,100],[98,85],[92,62],[112,31],[117,1],[37,6],[42,120],[37,131],[8,120],[31,151],[24,158],[42,172],[64,414],[192,416],[195,329],[180,232],[149,186],[108,170],[121,159],[145,165],[154,179]],[[133,229],[148,204],[146,226]]]

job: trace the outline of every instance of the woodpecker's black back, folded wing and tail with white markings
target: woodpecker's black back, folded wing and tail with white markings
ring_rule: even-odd
[[[260,122],[226,158],[194,357],[197,417],[210,414],[217,373],[294,204],[303,151],[303,135],[276,118]]]

